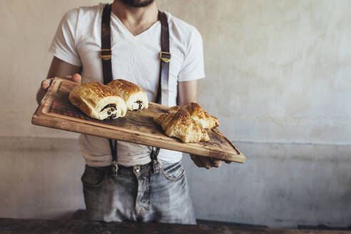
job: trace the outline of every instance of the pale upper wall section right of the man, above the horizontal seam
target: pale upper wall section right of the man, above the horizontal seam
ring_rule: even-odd
[[[226,136],[351,142],[351,1],[160,1],[203,35],[200,101]]]

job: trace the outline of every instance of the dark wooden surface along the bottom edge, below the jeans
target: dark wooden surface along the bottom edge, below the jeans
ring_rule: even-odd
[[[101,223],[83,220],[24,220],[0,218],[1,234],[206,234],[206,233],[351,233],[347,230],[294,230],[255,227],[248,225],[200,224],[180,225],[167,223]]]

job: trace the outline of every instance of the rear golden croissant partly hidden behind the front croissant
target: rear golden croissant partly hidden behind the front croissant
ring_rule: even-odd
[[[189,103],[187,106],[184,106],[184,108],[190,113],[190,117],[193,118],[201,128],[215,128],[219,126],[218,118],[210,116],[198,103]],[[173,106],[168,112],[175,113],[178,110],[180,110],[180,106]]]

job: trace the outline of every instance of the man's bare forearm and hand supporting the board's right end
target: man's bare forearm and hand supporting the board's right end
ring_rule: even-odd
[[[178,106],[185,106],[191,102],[198,102],[198,81],[183,81],[178,83]],[[222,161],[215,158],[190,154],[191,160],[199,168],[219,168]]]

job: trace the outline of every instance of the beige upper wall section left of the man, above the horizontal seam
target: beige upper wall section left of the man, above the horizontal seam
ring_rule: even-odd
[[[63,14],[98,1],[1,0],[0,129],[1,136],[74,137],[31,125],[36,91],[46,78],[49,46]]]

